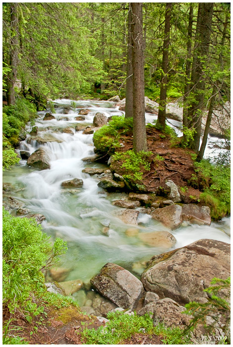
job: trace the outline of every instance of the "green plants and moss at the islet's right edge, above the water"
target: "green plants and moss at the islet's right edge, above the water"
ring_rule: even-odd
[[[211,217],[219,220],[231,212],[231,169],[213,165],[207,160],[195,163],[199,188],[203,189],[200,201],[210,207]]]

